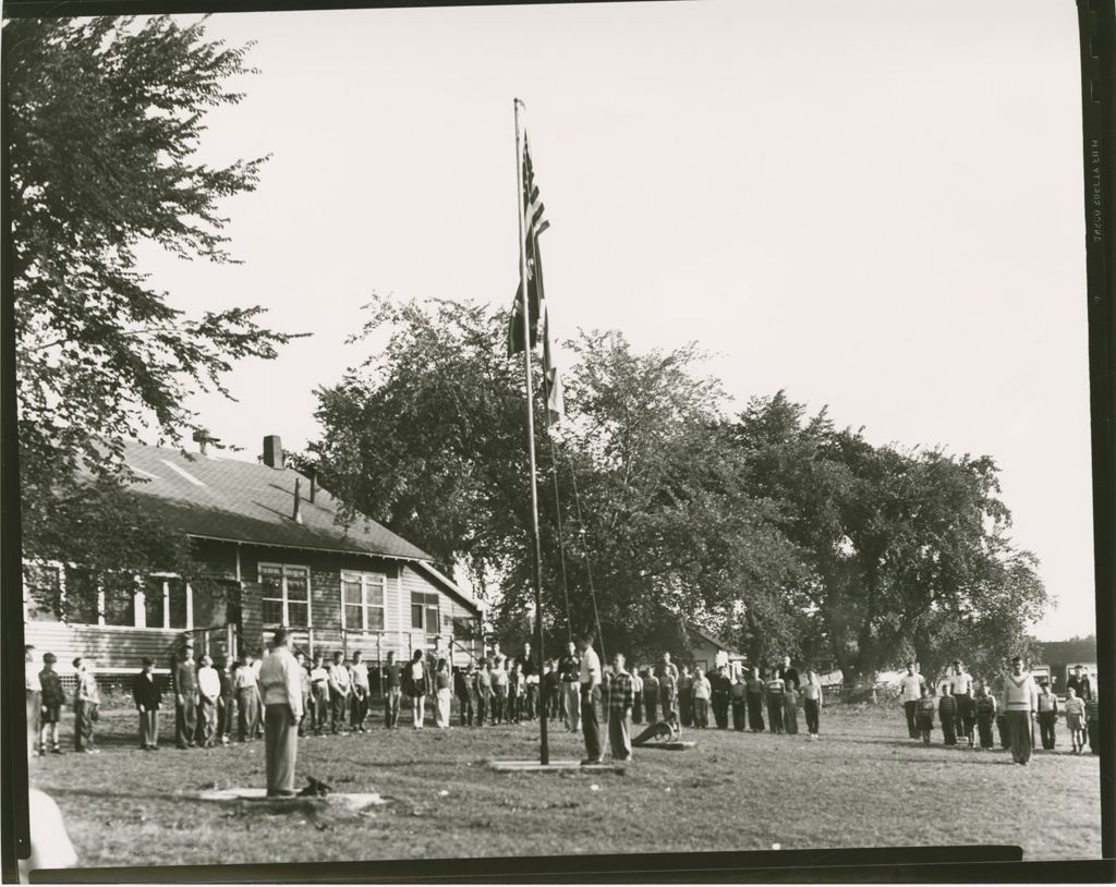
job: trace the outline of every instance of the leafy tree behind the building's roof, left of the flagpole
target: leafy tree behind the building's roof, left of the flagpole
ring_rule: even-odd
[[[481,587],[522,553],[528,526],[523,387],[491,312],[375,298],[355,339],[386,345],[318,391],[307,461],[346,507],[414,540]]]

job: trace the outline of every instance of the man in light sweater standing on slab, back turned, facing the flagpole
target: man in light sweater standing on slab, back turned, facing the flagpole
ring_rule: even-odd
[[[287,646],[287,630],[276,629],[271,655],[260,665],[269,798],[292,798],[296,793],[298,720],[302,716],[301,671]]]

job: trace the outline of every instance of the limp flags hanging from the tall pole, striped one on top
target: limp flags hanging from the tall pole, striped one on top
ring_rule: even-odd
[[[535,184],[535,168],[531,164],[531,153],[523,135],[523,253],[527,257],[527,311],[530,318],[530,345],[535,348],[542,337],[542,367],[545,376],[545,387],[547,395],[547,408],[550,413],[551,422],[559,422],[565,412],[562,401],[561,379],[558,369],[554,365],[550,354],[550,324],[547,315],[546,297],[542,290],[542,257],[539,252],[539,234],[550,226],[543,218],[545,208],[539,195],[539,187]],[[516,301],[511,310],[511,320],[508,322],[508,356],[520,354],[523,344],[523,283],[519,282],[516,289]]]

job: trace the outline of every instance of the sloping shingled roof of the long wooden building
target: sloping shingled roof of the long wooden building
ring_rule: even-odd
[[[125,461],[142,479],[133,489],[144,507],[187,536],[434,560],[371,518],[343,527],[340,503],[321,489],[311,503],[309,481],[292,469],[142,443],[126,446]],[[294,519],[296,481],[301,522]]]

